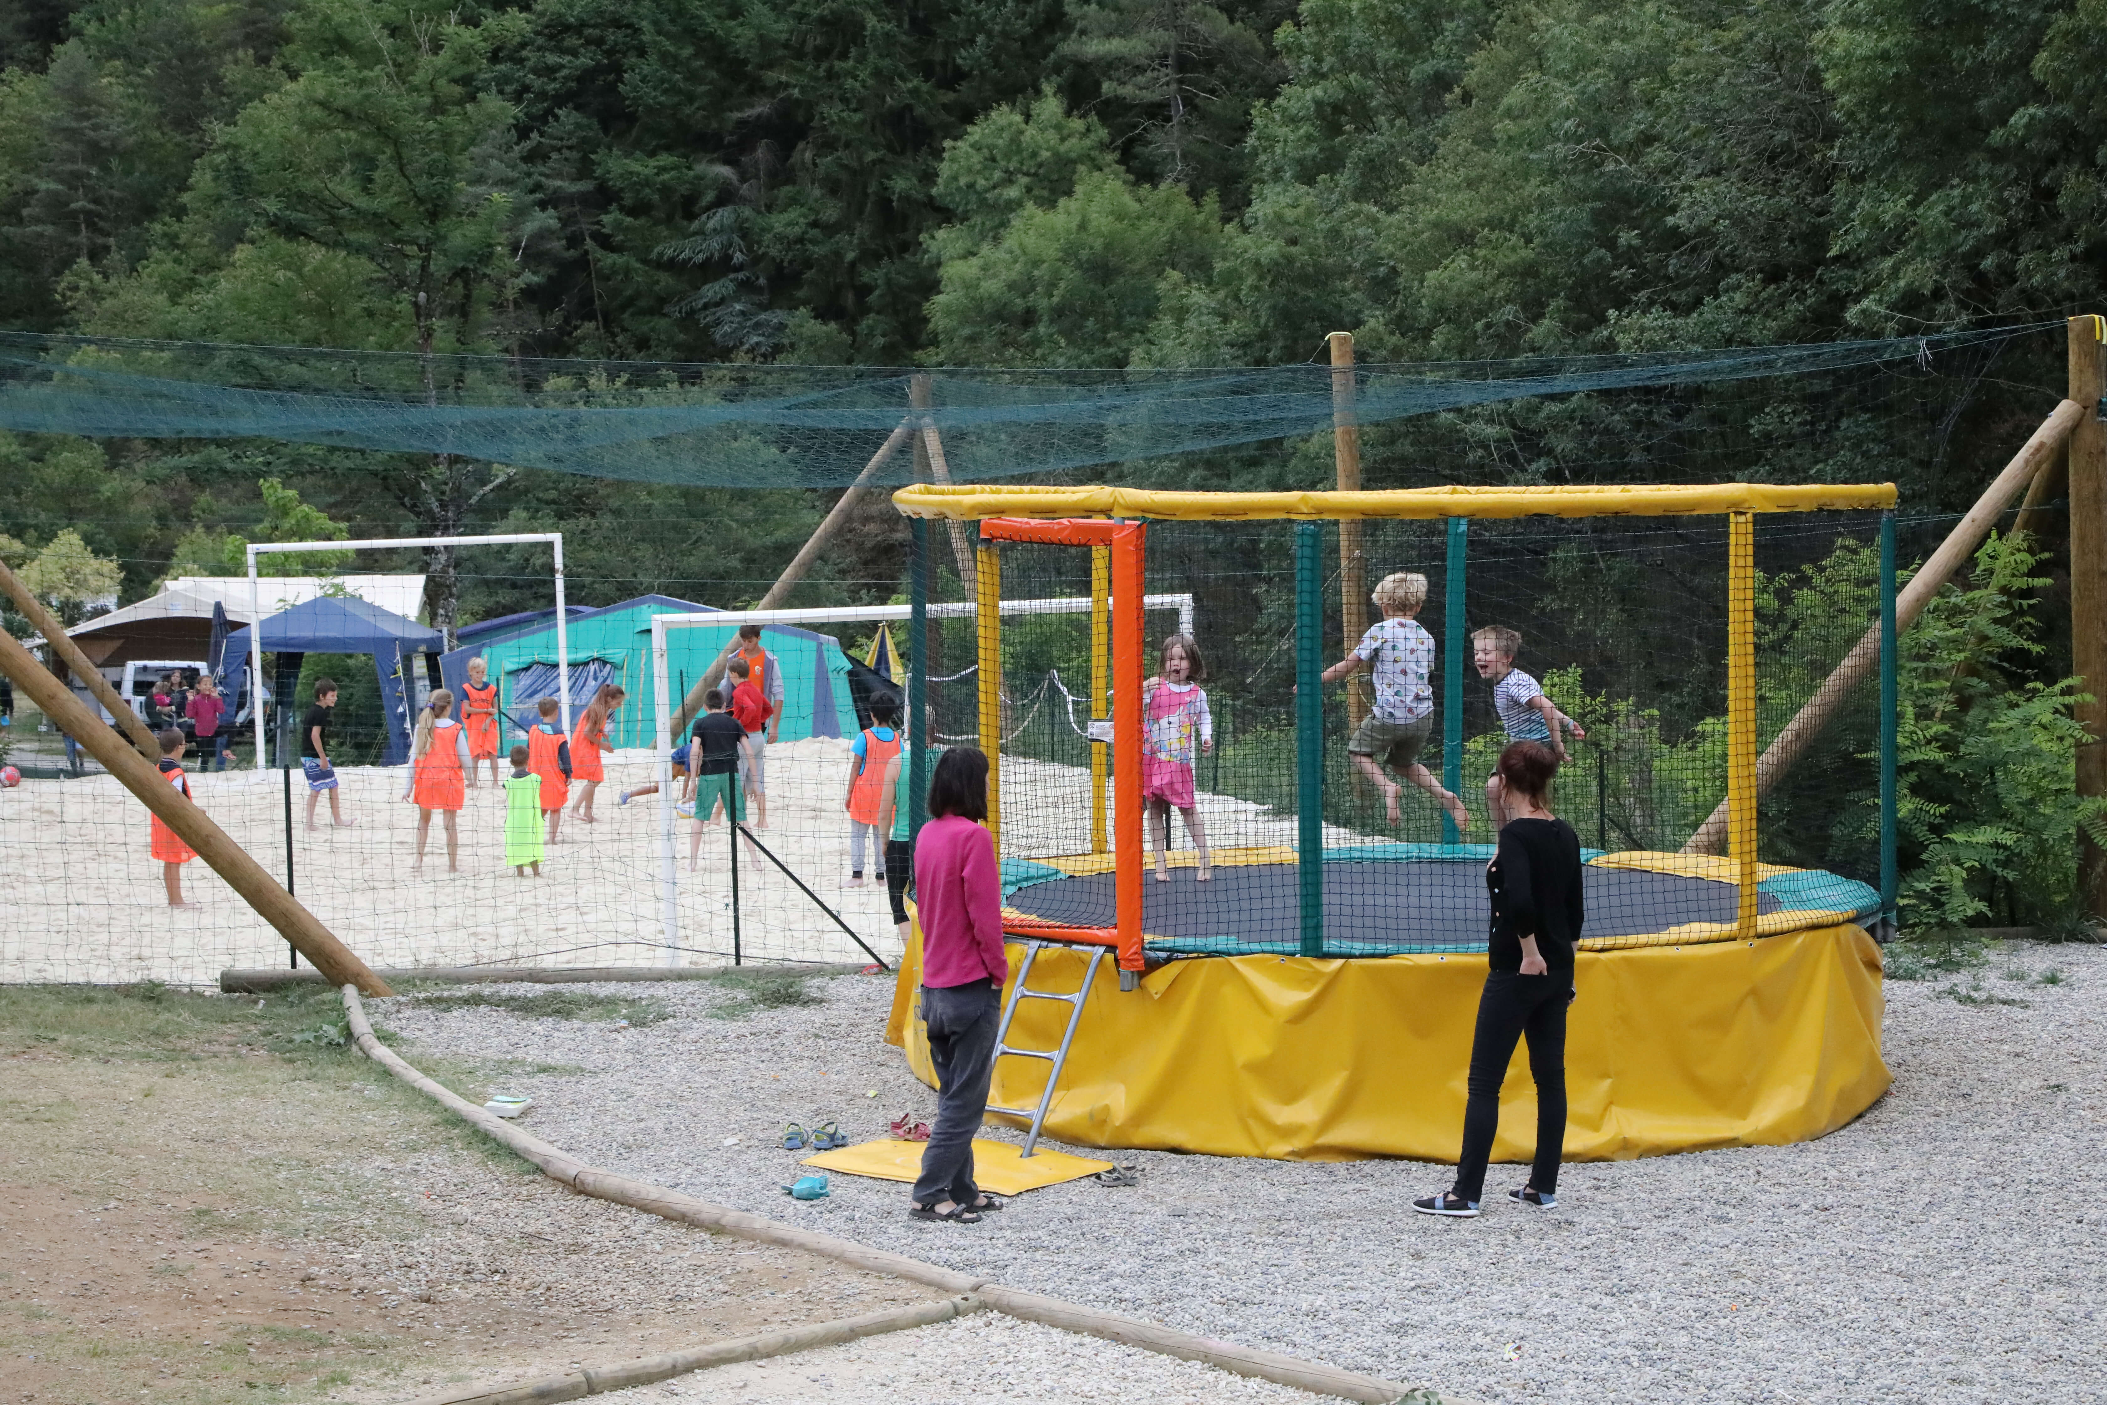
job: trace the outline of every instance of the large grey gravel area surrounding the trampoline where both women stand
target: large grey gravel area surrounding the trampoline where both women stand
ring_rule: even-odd
[[[799,1205],[780,1192],[784,1121],[868,1137],[900,1108],[933,1112],[883,1043],[889,982],[820,979],[818,1007],[744,1011],[721,988],[655,990],[676,1017],[649,1028],[373,1007],[453,1057],[596,1070],[514,1091],[539,1102],[539,1135],[598,1165],[1464,1397],[2107,1399],[2107,1049],[2088,1038],[2107,1022],[2103,948],[2016,944],[1890,982],[1894,1089],[1820,1142],[1576,1165],[1557,1211],[1500,1199],[1477,1222],[1410,1211],[1445,1167],[1167,1152],[1123,1156],[1140,1188],[1056,1186],[978,1228],[910,1222],[902,1186],[855,1178]],[[1490,1190],[1519,1180],[1496,1169]]]

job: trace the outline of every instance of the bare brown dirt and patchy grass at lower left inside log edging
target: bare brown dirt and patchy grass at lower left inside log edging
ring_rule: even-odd
[[[388,1401],[933,1295],[571,1194],[293,1043],[327,1017],[0,990],[0,1405]]]

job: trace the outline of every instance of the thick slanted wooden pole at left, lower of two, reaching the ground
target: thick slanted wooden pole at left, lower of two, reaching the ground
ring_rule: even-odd
[[[211,866],[215,874],[228,880],[242,902],[257,910],[257,914],[276,927],[287,942],[291,942],[301,956],[314,963],[331,984],[356,984],[367,994],[394,994],[388,982],[377,977],[343,942],[335,935],[306,908],[301,908],[291,893],[278,887],[278,880],[263,872],[263,866],[249,857],[234,838],[213,824],[202,809],[192,805],[190,796],[162,779],[160,771],[152,763],[135,756],[126,750],[112,733],[105,729],[88,708],[74,697],[57,674],[36,661],[36,657],[21,647],[6,630],[0,630],[0,672],[15,680],[29,699],[44,710],[53,723],[63,727],[74,735],[95,760],[103,763],[110,775],[118,777],[124,790],[139,796],[139,803],[150,811],[160,815],[162,824],[175,830],[177,838],[198,851],[198,857]],[[160,746],[154,748],[160,754]]]

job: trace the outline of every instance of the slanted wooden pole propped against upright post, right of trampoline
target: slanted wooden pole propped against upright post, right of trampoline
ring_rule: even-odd
[[[1997,474],[1995,482],[1991,482],[1983,497],[1976,499],[1976,506],[1968,510],[1968,516],[1953,525],[1953,531],[1949,531],[1947,539],[1938,543],[1938,550],[1932,552],[1930,560],[1926,560],[1924,567],[1909,577],[1909,583],[1896,592],[1896,632],[1915,624],[1917,615],[1924,613],[1924,607],[1930,605],[1934,594],[1938,594],[1938,588],[1953,579],[1953,573],[1960,571],[1970,556],[1974,556],[1974,550],[1983,546],[1983,537],[1987,537],[1989,529],[1997,522],[1997,514],[2002,514],[2006,503],[2019,497],[2021,489],[2025,489],[2035,474],[2040,474],[2042,468],[2054,459],[2063,440],[2069,438],[2071,430],[2084,415],[2084,407],[2075,400],[2065,400],[2048,415],[2048,419],[2042,421],[2021,451],[2012,455],[2012,461],[2004,466],[2004,472]],[[1806,756],[1808,748],[1814,746],[1814,737],[1818,737],[1823,727],[1829,725],[1829,718],[1837,714],[1837,708],[1844,706],[1844,699],[1852,693],[1852,689],[1871,678],[1877,670],[1879,626],[1875,624],[1856,645],[1852,645],[1852,651],[1846,653],[1844,661],[1835,666],[1835,672],[1823,680],[1823,687],[1814,691],[1814,697],[1801,704],[1799,712],[1793,714],[1793,720],[1785,725],[1785,731],[1772,737],[1770,746],[1764,748],[1764,754],[1755,763],[1757,796],[1768,794],[1778,777],[1791,771],[1795,760]],[[1698,832],[1690,836],[1690,843],[1683,845],[1683,853],[1719,853],[1726,845],[1726,832],[1728,803],[1719,800],[1719,807],[1711,813],[1711,817],[1705,819],[1705,824],[1698,826]]]

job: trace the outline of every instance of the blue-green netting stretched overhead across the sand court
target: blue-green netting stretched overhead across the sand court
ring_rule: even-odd
[[[1945,438],[1976,377],[2014,337],[2063,322],[1936,337],[1507,362],[1367,364],[1355,417],[1384,426],[1469,417],[1544,396],[1675,390],[1599,415],[1473,421],[1443,472],[1536,472],[1551,455],[1646,461],[1624,480],[1679,480],[1707,438],[1740,447],[1734,474],[1808,476],[1816,436],[1882,457]],[[1806,390],[1736,396],[1801,377]],[[278,438],[447,453],[600,478],[700,487],[1054,478],[1066,470],[1308,436],[1334,417],[1334,371],[902,371],[337,352],[0,333],[0,430],[118,438]],[[1867,428],[1877,423],[1877,432]],[[1488,426],[1492,426],[1488,430]],[[1854,430],[1856,426],[1856,430]],[[902,434],[902,428],[906,432]],[[1614,430],[1620,447],[1595,440]],[[933,434],[929,434],[933,432]],[[1488,438],[1488,432],[1492,438]],[[1673,442],[1671,442],[1673,440]],[[1534,444],[1534,447],[1532,447]],[[1473,459],[1483,459],[1473,463]],[[1768,466],[1766,466],[1768,463]]]

